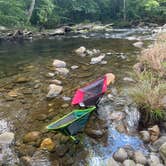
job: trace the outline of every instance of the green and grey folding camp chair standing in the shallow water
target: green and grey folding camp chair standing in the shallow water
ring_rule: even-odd
[[[60,131],[64,135],[70,136],[72,140],[77,142],[78,140],[73,135],[76,135],[79,130],[84,128],[90,114],[95,109],[96,107],[73,110],[71,113],[49,124],[46,128],[49,131]]]

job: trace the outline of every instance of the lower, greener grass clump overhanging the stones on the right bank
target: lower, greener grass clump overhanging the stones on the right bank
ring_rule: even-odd
[[[165,81],[148,71],[137,75],[137,80],[128,92],[140,109],[143,124],[164,120],[166,109],[161,99],[166,95]]]

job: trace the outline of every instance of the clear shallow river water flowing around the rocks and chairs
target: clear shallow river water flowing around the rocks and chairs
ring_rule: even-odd
[[[132,86],[132,83],[125,81],[124,77],[130,77],[132,66],[136,63],[140,53],[140,49],[133,46],[133,43],[137,41],[135,36],[145,39],[145,47],[151,39],[148,29],[135,31],[128,29],[115,30],[110,34],[93,33],[31,42],[0,43],[0,134],[7,131],[13,132],[16,146],[19,146],[23,135],[27,132],[36,130],[43,132],[44,127],[52,120],[69,113],[73,107],[70,106],[70,101],[65,101],[65,99],[72,98],[78,87],[108,72],[112,72],[116,76],[115,84],[109,87],[108,93],[105,95],[106,102],[103,99],[99,104],[100,119],[107,125],[104,140],[92,139],[83,132],[78,136],[81,144],[74,145],[69,141],[68,152],[62,157],[55,156],[56,153],[44,154],[44,157],[42,157],[43,154],[36,154],[38,152],[19,154],[14,145],[2,147],[7,158],[5,164],[14,165],[14,162],[19,162],[20,156],[28,154],[33,156],[35,166],[56,165],[57,162],[60,165],[68,163],[68,165],[97,166],[106,163],[113,152],[121,146],[130,144],[146,152],[137,137],[136,130],[133,129],[137,127],[139,115],[133,119],[133,114],[130,115],[127,112],[128,101],[123,94],[124,89]],[[85,46],[87,49],[100,49],[102,53],[106,53],[104,60],[107,61],[107,64],[90,65],[90,57],[80,57],[74,53],[74,50],[80,46]],[[54,59],[64,60],[70,72],[66,77],[54,77],[62,81],[63,93],[53,100],[47,100],[47,87],[52,79],[48,77],[48,73],[52,71]],[[73,65],[77,65],[79,68],[72,70],[70,67]],[[24,83],[18,83],[16,80],[22,77],[27,80]],[[114,103],[111,103],[111,99],[108,100],[111,90]],[[11,91],[17,95],[9,96],[8,93]],[[68,106],[64,106],[66,103]],[[132,110],[134,111],[134,109]],[[119,133],[114,128],[112,121],[108,119],[110,113],[116,110],[126,111],[128,122],[130,122],[128,124],[130,128],[127,129],[129,135]],[[102,112],[101,115],[100,112]],[[54,134],[44,136],[54,137]],[[69,158],[72,161],[69,161]]]

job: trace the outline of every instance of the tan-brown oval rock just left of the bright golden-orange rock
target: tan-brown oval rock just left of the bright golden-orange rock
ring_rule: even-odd
[[[23,142],[35,142],[40,138],[41,133],[39,131],[32,131],[26,134],[23,138]]]

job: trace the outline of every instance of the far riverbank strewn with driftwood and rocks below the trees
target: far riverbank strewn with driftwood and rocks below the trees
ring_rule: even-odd
[[[156,24],[139,24],[138,26],[133,26],[133,29],[149,29],[151,33],[158,33],[159,31],[163,31],[166,26],[158,26]],[[90,34],[95,33],[112,33],[114,29],[118,29],[118,27],[113,24],[96,24],[96,23],[82,23],[70,26],[61,26],[56,29],[46,29],[40,30],[33,28],[31,30],[28,29],[8,29],[3,26],[0,27],[0,41],[23,41],[23,40],[37,40],[37,39],[54,39],[61,38],[64,36],[75,36],[79,35],[80,37],[88,37]],[[126,29],[126,27],[121,29]],[[90,36],[93,37],[93,36]],[[137,40],[137,38],[133,38],[132,40]]]

